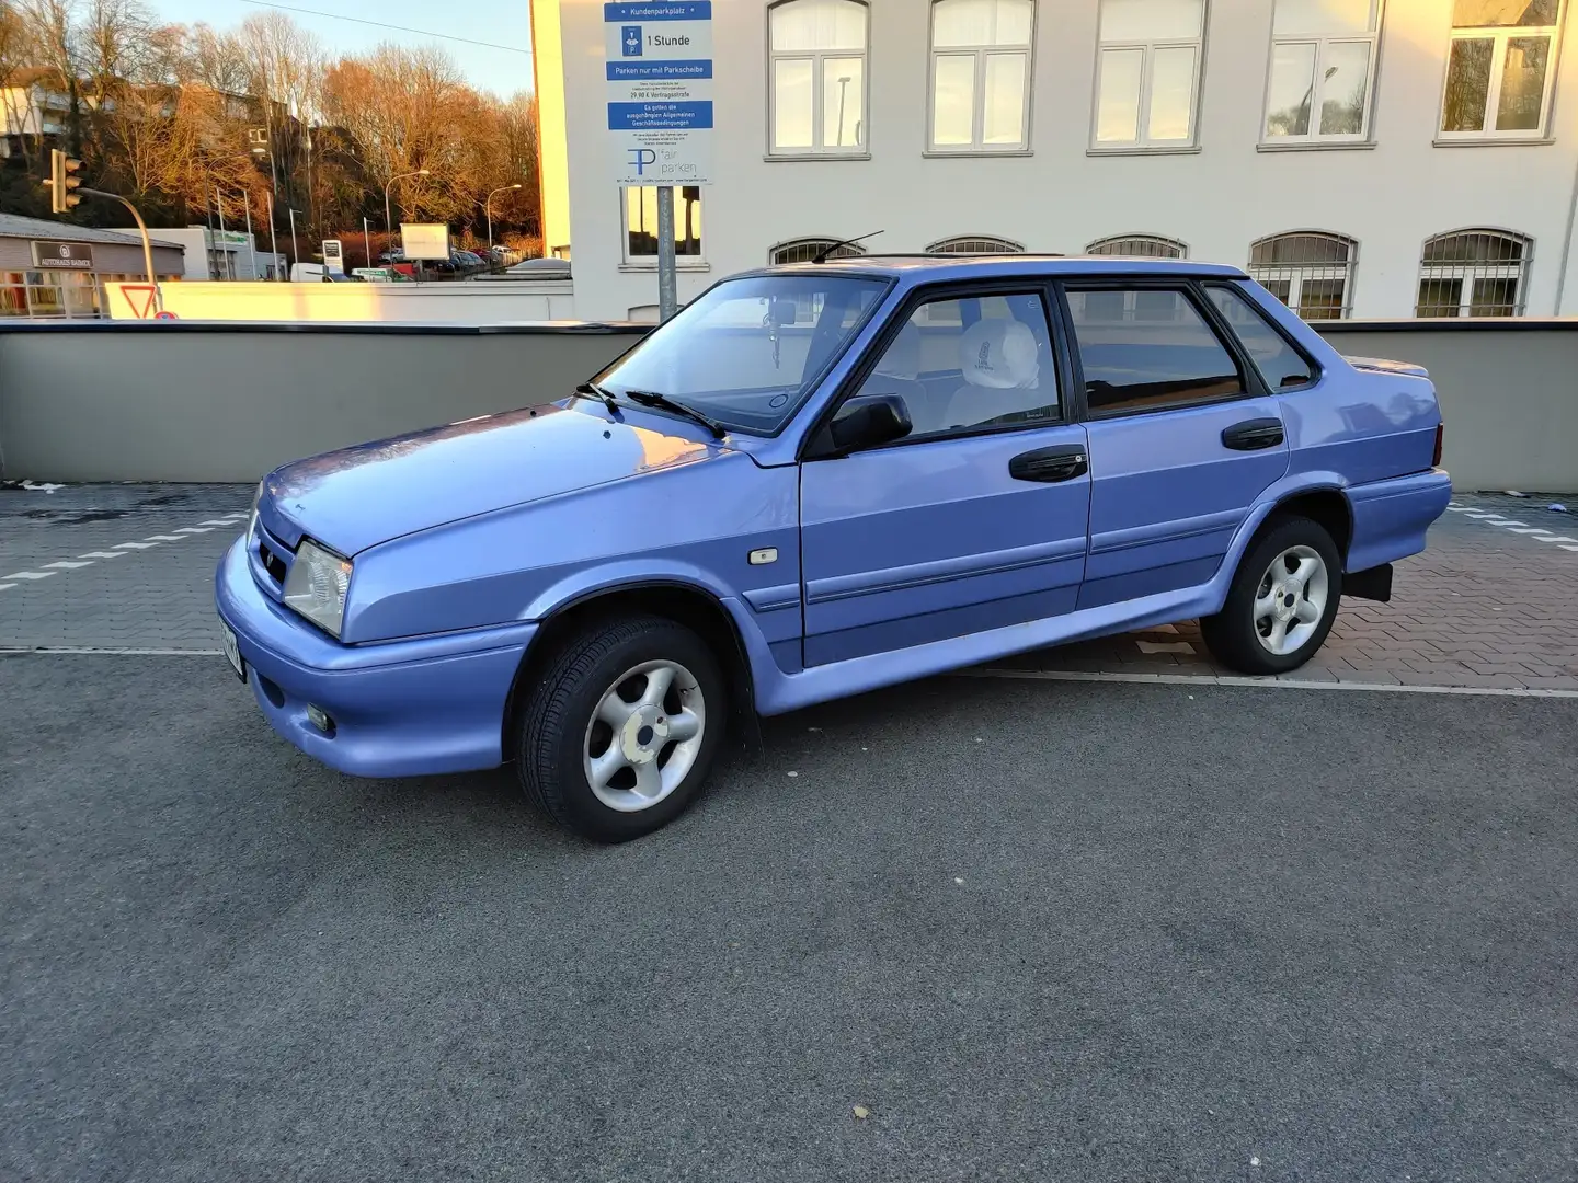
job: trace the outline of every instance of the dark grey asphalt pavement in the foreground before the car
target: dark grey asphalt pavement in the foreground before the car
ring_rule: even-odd
[[[1575,699],[939,678],[600,849],[0,655],[0,1178],[1573,1178],[1575,768]]]

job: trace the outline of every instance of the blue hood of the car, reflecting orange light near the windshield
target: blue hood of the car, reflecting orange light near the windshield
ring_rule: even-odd
[[[633,416],[634,418],[634,416]],[[344,555],[418,530],[729,451],[664,429],[546,405],[484,415],[287,464],[264,481],[259,516],[289,546],[303,535]]]

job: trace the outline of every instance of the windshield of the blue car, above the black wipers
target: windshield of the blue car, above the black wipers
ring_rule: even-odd
[[[750,432],[773,432],[860,330],[887,281],[839,274],[726,279],[595,382],[655,391]]]

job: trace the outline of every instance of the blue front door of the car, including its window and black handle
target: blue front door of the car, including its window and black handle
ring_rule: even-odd
[[[802,464],[808,667],[1073,610],[1090,475],[1059,397],[1049,295],[933,289],[851,383],[898,394],[912,431]]]

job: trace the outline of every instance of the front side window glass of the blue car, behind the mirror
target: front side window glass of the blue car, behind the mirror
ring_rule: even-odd
[[[929,300],[860,393],[904,399],[911,438],[1056,423],[1051,341],[1038,293]]]

